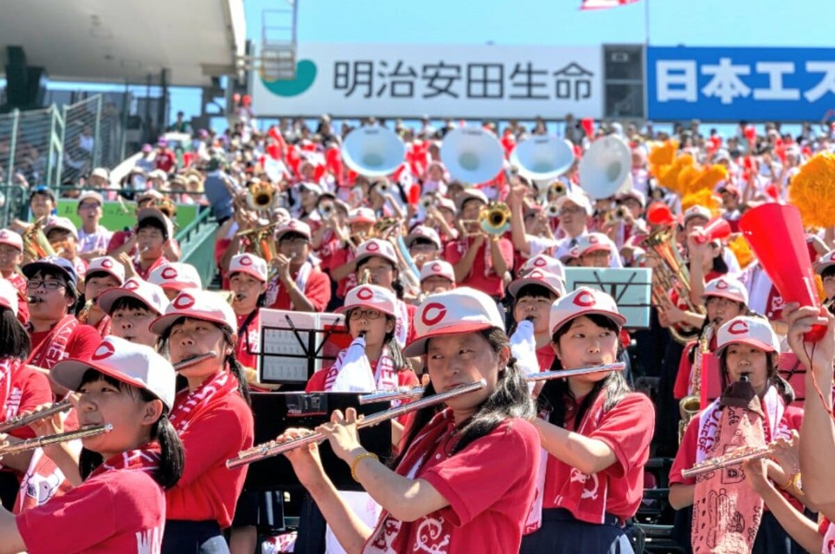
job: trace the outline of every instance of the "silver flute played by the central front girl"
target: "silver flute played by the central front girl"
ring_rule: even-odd
[[[484,381],[484,379],[480,379],[474,383],[462,384],[458,387],[454,387],[453,389],[446,390],[443,393],[433,394],[432,396],[428,396],[424,399],[415,400],[411,404],[403,404],[402,406],[397,406],[396,408],[377,412],[377,414],[372,414],[358,420],[357,429],[372,427],[373,425],[381,424],[383,421],[387,421],[388,419],[394,419],[400,417],[401,415],[417,411],[418,409],[428,408],[429,406],[446,402],[448,399],[453,399],[461,396],[462,394],[468,394],[476,390],[481,390],[486,386],[487,382]],[[325,438],[325,435],[321,433],[311,433],[310,435],[303,436],[299,439],[287,440],[286,442],[281,443],[276,440],[271,440],[262,445],[253,446],[249,450],[242,450],[237,457],[226,460],[226,467],[232,470],[236,467],[240,467],[240,465],[251,464],[252,462],[284,454],[290,450],[296,450],[301,446],[319,443],[322,440],[325,440]]]

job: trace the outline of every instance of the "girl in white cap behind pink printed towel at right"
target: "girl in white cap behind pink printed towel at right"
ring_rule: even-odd
[[[716,332],[716,356],[720,360],[722,389],[746,375],[762,404],[766,443],[790,439],[792,430],[800,429],[803,410],[789,405],[794,399],[791,385],[777,373],[780,342],[767,319],[740,316]],[[696,479],[685,479],[681,470],[706,459],[716,441],[721,418],[719,399],[691,419],[670,470],[670,504],[676,510],[692,506]],[[780,465],[768,465],[767,477],[778,485],[787,483]],[[797,505],[799,506],[799,504]],[[689,526],[689,520],[687,521]],[[792,551],[792,541],[773,514],[766,511],[753,545],[754,552]]]

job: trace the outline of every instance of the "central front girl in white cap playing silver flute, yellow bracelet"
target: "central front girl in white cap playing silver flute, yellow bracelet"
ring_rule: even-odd
[[[395,470],[362,448],[353,409],[337,410],[317,428],[382,506],[377,527],[352,515],[322,470],[316,445],[286,455],[346,551],[517,551],[534,496],[537,436],[504,321],[483,292],[457,288],[424,301],[415,324],[417,338],[404,355],[427,356],[427,395],[478,379],[488,385],[448,400],[439,413],[418,411]],[[301,432],[287,429],[281,439]]]

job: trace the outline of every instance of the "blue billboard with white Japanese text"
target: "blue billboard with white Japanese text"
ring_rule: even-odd
[[[835,114],[835,48],[647,50],[650,119],[820,121]]]

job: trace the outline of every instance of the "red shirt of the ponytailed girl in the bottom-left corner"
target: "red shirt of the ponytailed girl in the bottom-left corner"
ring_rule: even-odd
[[[159,552],[162,487],[145,471],[110,470],[17,517],[30,554]]]

